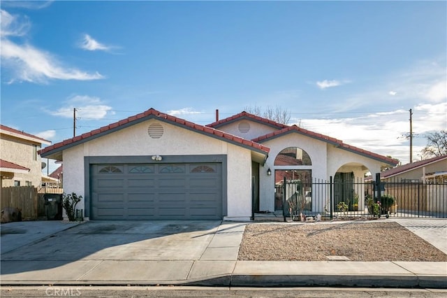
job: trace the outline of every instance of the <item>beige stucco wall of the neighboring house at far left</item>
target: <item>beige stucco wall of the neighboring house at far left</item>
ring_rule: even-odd
[[[42,160],[40,155],[35,155],[34,146],[41,149],[41,144],[24,141],[22,139],[1,134],[0,139],[0,156],[1,159],[7,160],[24,166],[29,169],[28,173],[15,173],[12,179],[2,179],[2,187],[14,186],[14,180],[20,181],[20,186],[26,185],[26,181],[31,181],[31,185],[39,187],[41,185],[41,168]],[[36,156],[36,160],[34,160]]]

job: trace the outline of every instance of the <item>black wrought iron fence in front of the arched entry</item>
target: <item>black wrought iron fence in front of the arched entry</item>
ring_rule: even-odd
[[[284,220],[447,218],[445,182],[284,179],[278,191]]]

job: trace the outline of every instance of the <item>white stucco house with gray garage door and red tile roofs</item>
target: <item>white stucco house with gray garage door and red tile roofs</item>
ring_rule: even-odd
[[[252,194],[257,210],[281,207],[283,177],[363,178],[397,164],[245,112],[202,126],[153,108],[40,153],[63,160],[64,190],[82,195],[91,220],[249,220]]]

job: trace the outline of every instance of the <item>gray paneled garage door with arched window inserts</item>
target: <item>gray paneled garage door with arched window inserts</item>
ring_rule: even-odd
[[[222,166],[91,165],[93,220],[221,220]]]

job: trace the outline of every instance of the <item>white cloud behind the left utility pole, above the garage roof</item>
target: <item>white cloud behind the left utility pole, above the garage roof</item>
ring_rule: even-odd
[[[87,95],[75,95],[57,111],[45,111],[53,116],[73,118],[74,108],[76,109],[76,118],[82,120],[100,120],[108,114],[113,114],[112,107],[105,105],[100,98]]]

